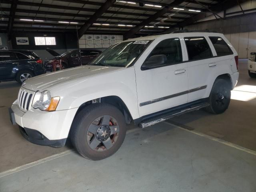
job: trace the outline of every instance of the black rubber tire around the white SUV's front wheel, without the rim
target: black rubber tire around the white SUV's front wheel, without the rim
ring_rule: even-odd
[[[87,141],[88,129],[92,122],[100,116],[109,115],[116,119],[119,125],[118,138],[111,148],[104,151],[93,150]],[[110,134],[109,134],[110,135]],[[110,104],[91,104],[78,112],[70,129],[71,142],[84,158],[90,160],[102,160],[113,155],[122,145],[126,135],[126,122],[118,108]],[[95,135],[96,137],[96,135]],[[94,138],[96,140],[97,138]],[[103,144],[103,143],[100,143]]]

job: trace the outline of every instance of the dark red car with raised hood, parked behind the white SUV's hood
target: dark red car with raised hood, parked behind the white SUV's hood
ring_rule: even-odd
[[[63,54],[58,54],[56,51],[47,48],[48,51],[52,56],[53,59],[46,60],[44,62],[44,67],[48,71],[52,71],[53,64],[62,64],[63,68],[71,68],[80,65],[80,57],[79,57],[79,50],[68,51]],[[87,65],[91,62],[94,58],[96,58],[102,51],[94,50],[94,49],[80,49],[81,58],[82,58],[82,65]]]

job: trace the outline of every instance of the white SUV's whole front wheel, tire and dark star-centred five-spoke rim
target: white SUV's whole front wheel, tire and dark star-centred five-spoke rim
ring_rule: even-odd
[[[91,104],[76,115],[70,138],[73,146],[90,160],[101,160],[114,154],[126,135],[124,116],[110,104]]]

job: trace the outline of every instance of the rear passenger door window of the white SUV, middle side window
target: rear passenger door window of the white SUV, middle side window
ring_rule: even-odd
[[[184,37],[188,60],[199,60],[212,57],[212,51],[204,37]]]

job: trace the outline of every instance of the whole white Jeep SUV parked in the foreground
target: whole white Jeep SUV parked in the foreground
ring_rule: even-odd
[[[223,34],[129,39],[87,66],[27,80],[10,118],[32,143],[60,147],[69,136],[82,156],[100,160],[120,148],[131,122],[144,128],[200,108],[224,112],[237,66]]]

